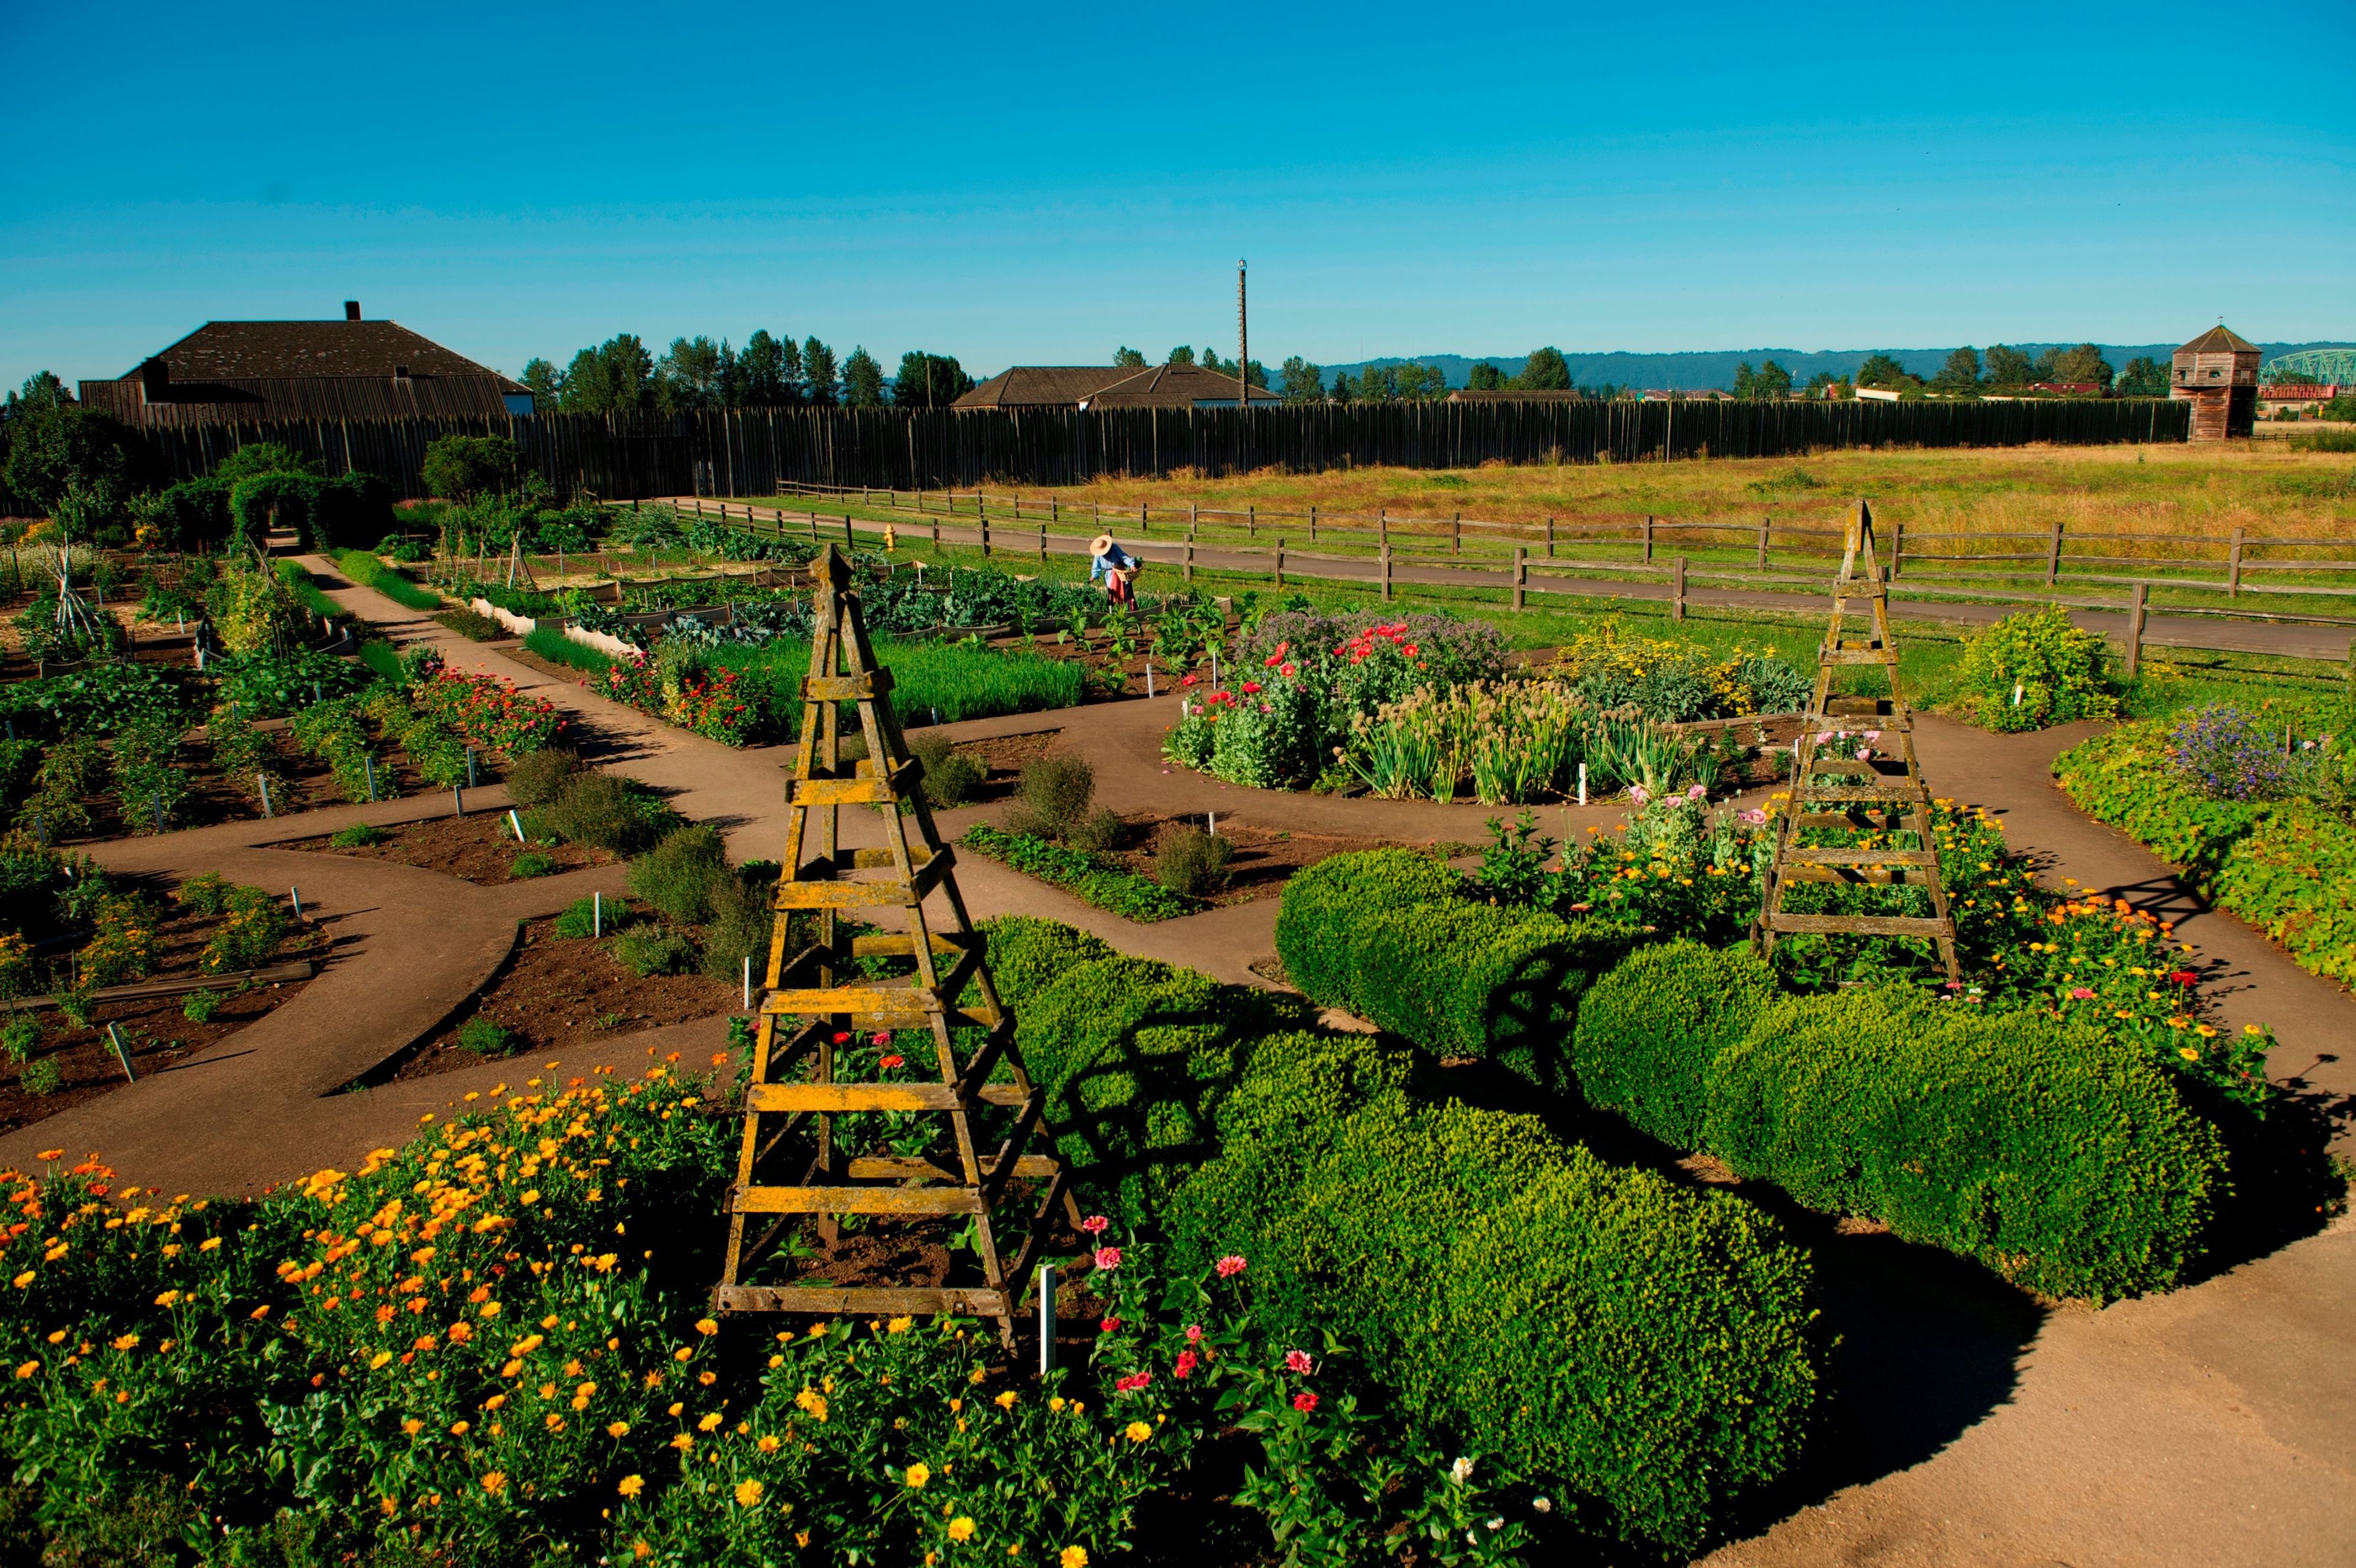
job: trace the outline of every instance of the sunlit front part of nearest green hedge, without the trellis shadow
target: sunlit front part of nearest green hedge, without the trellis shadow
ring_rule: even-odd
[[[1348,1326],[1442,1453],[1496,1455],[1670,1552],[1791,1467],[1816,1401],[1809,1262],[1765,1212],[1529,1116],[1376,1095],[1230,1144],[1173,1229],[1180,1255],[1251,1260],[1270,1328]]]

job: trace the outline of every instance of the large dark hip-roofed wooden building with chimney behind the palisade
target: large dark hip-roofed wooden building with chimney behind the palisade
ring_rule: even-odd
[[[82,403],[141,428],[259,419],[532,414],[532,393],[389,320],[207,320]]]

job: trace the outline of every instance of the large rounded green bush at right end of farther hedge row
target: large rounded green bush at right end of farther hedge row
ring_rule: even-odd
[[[1906,986],[1769,1005],[1710,1069],[1703,1144],[2047,1295],[2177,1285],[2226,1196],[2217,1130],[2132,1045]]]

